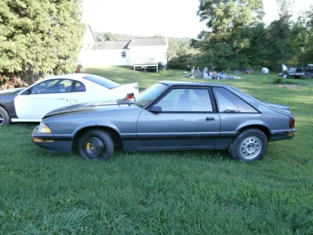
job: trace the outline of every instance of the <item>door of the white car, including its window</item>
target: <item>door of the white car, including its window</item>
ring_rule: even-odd
[[[18,118],[40,121],[51,110],[70,105],[72,80],[48,79],[15,97]]]

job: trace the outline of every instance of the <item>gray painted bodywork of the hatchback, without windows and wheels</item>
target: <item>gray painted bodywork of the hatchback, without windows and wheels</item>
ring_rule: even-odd
[[[68,151],[72,145],[70,140],[80,130],[99,126],[115,130],[121,137],[124,149],[129,151],[224,149],[229,146],[240,129],[250,125],[268,128],[271,133],[270,141],[293,138],[288,135],[295,129],[289,128],[289,119],[292,115],[286,106],[262,103],[236,88],[222,84],[178,81],[162,83],[168,84],[167,89],[173,86],[224,87],[251,104],[260,113],[156,114],[149,111],[149,105],[141,108],[134,104],[118,105],[116,101],[85,103],[57,109],[47,114],[43,122],[52,130],[50,136],[55,142],[51,145],[36,144],[49,151]],[[166,91],[162,94],[164,93]],[[41,136],[43,134],[36,132],[35,129],[33,137]]]

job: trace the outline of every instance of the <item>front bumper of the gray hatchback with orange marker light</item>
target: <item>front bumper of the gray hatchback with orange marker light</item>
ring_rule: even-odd
[[[32,141],[39,147],[53,153],[71,153],[72,137],[68,135],[52,135],[38,132],[37,126],[32,132]]]

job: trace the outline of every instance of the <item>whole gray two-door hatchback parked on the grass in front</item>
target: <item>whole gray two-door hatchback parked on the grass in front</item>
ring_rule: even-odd
[[[296,134],[289,107],[264,103],[238,89],[202,82],[160,81],[135,100],[83,103],[45,115],[32,133],[50,152],[86,160],[126,151],[228,149],[234,159],[255,161],[269,141]]]

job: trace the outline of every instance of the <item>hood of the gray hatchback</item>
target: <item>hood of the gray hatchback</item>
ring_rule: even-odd
[[[129,104],[117,104],[116,101],[89,102],[89,103],[74,104],[74,105],[65,106],[59,109],[55,109],[47,113],[44,118],[54,116],[54,115],[67,114],[67,113],[77,113],[77,112],[95,111],[95,110],[96,111],[125,110],[125,109],[134,109],[134,107],[136,106],[129,105]]]

